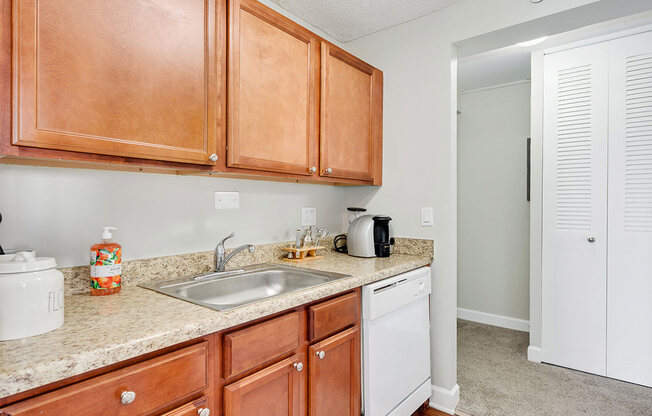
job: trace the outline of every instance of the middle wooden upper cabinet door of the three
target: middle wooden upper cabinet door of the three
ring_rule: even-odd
[[[256,1],[229,4],[228,166],[311,175],[319,39]]]

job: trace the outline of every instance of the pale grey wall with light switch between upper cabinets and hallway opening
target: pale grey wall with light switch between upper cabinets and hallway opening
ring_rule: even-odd
[[[435,240],[431,404],[456,405],[457,143],[453,43],[593,0],[466,0],[409,23],[347,43],[385,74],[384,178],[381,189],[350,188],[345,205],[394,219],[398,235]],[[527,40],[527,39],[520,39]],[[432,228],[420,207],[434,208]]]

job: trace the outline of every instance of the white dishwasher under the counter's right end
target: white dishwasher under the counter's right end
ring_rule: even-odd
[[[410,416],[431,394],[430,267],[362,288],[365,416]]]

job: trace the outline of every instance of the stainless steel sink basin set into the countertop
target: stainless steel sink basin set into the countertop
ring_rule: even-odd
[[[141,285],[187,302],[226,311],[350,277],[340,273],[259,264],[243,270],[208,273]]]

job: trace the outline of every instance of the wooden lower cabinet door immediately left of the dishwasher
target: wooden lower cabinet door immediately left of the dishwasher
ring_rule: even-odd
[[[310,416],[360,415],[360,331],[347,329],[308,350]]]

